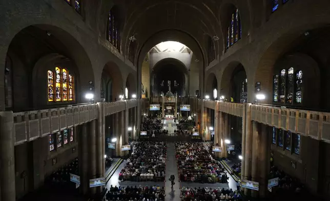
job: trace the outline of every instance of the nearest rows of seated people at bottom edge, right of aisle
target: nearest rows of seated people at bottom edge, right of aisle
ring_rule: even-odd
[[[190,201],[190,200],[207,200],[207,201],[214,201],[214,200],[241,200],[242,197],[237,191],[233,191],[232,189],[220,189],[218,188],[181,188],[181,195],[183,201]]]

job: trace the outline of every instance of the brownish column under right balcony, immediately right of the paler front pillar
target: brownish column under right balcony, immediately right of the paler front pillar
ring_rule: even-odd
[[[257,122],[252,122],[252,157],[251,157],[251,180],[254,182],[259,182],[258,175],[258,145],[259,142],[259,124]],[[258,191],[252,190],[251,195],[257,197]]]

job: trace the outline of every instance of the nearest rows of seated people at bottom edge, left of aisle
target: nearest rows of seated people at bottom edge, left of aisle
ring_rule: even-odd
[[[106,193],[105,200],[120,200],[120,201],[161,201],[164,200],[165,189],[159,186],[131,186],[131,187],[113,187]]]

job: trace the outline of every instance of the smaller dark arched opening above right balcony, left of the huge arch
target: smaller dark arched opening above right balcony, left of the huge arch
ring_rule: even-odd
[[[229,63],[222,72],[219,95],[225,98],[233,97],[234,102],[239,102],[242,94],[241,85],[246,80],[247,75],[246,69],[240,62]],[[247,88],[246,83],[246,90]]]

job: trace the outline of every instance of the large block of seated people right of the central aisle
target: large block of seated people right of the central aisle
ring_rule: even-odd
[[[182,182],[227,183],[224,167],[202,143],[175,143],[179,180]]]

